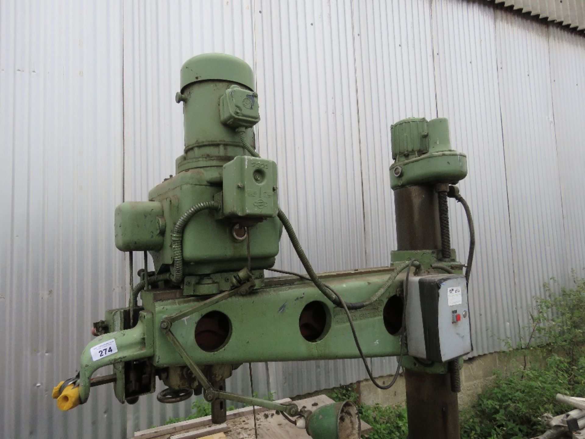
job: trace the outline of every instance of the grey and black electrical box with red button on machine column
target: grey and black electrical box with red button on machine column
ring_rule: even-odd
[[[444,363],[472,351],[462,275],[412,276],[406,308],[408,355]]]

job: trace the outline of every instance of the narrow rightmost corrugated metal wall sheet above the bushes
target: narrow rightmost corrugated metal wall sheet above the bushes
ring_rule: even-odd
[[[563,29],[549,29],[550,79],[555,112],[556,154],[565,217],[567,265],[585,276],[585,39]]]

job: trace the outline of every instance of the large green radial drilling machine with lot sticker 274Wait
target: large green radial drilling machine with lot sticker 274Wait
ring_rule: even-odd
[[[365,359],[398,356],[399,368],[434,376],[426,384],[417,378],[415,386],[430,386],[432,399],[442,401],[445,393],[447,404],[433,408],[437,402],[411,398],[409,420],[417,404],[427,404],[412,411],[417,423],[438,416],[448,435],[432,437],[458,437],[453,390],[460,357],[471,350],[466,281],[473,246],[466,279],[450,248],[446,200],[464,203],[450,184],[466,176],[467,164],[450,148],[446,119],[405,119],[392,128],[399,248],[390,266],[318,275],[278,207],[276,163],[254,148],[260,112],[250,67],[225,54],[196,56],[181,68],[176,100],[183,102],[185,127],[176,174],[154,187],[149,201],[115,211],[116,247],[129,252],[130,272],[133,252],[144,252],[145,261],[149,252],[154,271],[140,270],[128,307],[94,324],[80,371],[54,389],[59,408],[87,402],[91,387],[104,383],[113,383],[121,403],[135,403],[154,392],[158,377],[167,386],[160,402],[202,394],[214,422],[225,421],[231,400],[297,417],[312,437],[339,437],[342,407],[357,416],[350,404],[324,407],[317,417],[294,403],[226,392],[225,380],[242,363],[362,358],[373,382],[388,388]],[[283,228],[307,276],[266,279]],[[408,356],[409,339],[412,347],[418,343],[418,358]],[[93,376],[108,365],[112,375]],[[407,374],[407,396],[408,380]],[[422,437],[411,431],[411,438]]]

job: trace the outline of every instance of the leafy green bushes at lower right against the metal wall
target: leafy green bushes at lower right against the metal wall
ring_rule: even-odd
[[[569,410],[555,402],[556,393],[585,395],[585,279],[555,291],[546,283],[545,297],[535,299],[528,337],[511,355],[521,361],[508,376],[496,378],[477,402],[462,413],[462,439],[518,439],[543,433],[539,417]]]

